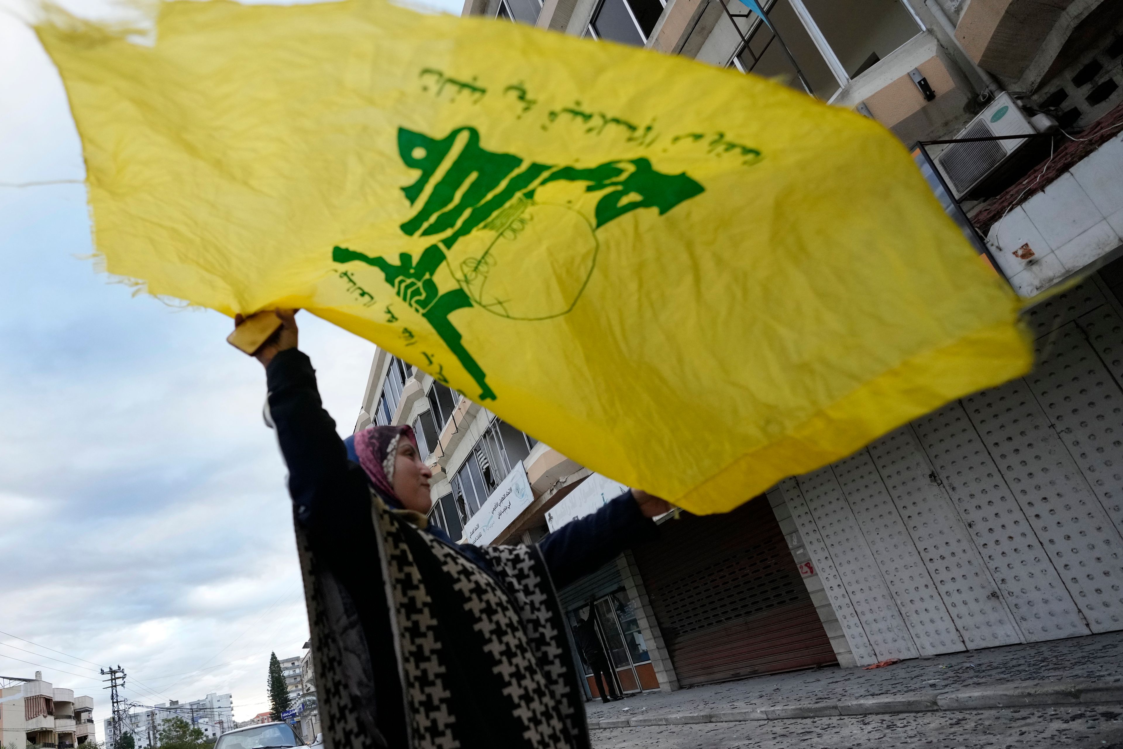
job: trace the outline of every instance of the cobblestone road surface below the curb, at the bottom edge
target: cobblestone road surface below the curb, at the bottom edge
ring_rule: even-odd
[[[594,749],[1123,749],[1119,707],[969,710],[593,731]]]

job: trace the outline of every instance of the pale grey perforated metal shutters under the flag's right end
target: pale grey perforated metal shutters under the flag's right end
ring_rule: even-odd
[[[1024,378],[782,484],[859,664],[1123,630],[1120,301],[1051,296]]]

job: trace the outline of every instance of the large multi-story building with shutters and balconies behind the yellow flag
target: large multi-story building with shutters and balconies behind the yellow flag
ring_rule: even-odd
[[[559,592],[567,616],[593,618],[624,692],[1123,629],[1123,3],[760,4],[767,22],[738,0],[467,0],[465,13],[855,109],[912,149],[1023,298],[1084,281],[1026,310],[1029,376],[732,513],[664,518],[658,542]],[[454,538],[536,540],[622,488],[382,349],[356,426],[369,423],[413,426],[432,520]]]

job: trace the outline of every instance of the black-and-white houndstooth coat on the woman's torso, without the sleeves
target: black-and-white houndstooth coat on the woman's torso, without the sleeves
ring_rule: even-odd
[[[364,569],[296,523],[326,749],[587,748],[538,548],[477,548],[484,570],[376,496],[371,523]]]

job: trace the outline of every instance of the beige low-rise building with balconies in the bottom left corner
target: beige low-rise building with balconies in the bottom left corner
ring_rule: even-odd
[[[18,682],[0,688],[0,743],[20,749],[74,749],[94,736],[93,697],[74,696],[73,689],[35,678],[2,677]]]

